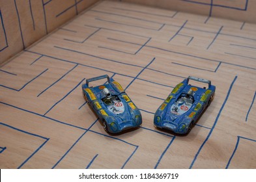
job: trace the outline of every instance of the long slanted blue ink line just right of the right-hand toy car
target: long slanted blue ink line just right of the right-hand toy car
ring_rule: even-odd
[[[231,85],[229,87],[229,91],[227,92],[227,96],[225,98],[225,101],[223,102],[223,104],[222,104],[222,106],[220,108],[220,111],[219,111],[219,113],[218,113],[218,115],[216,117],[216,120],[214,121],[214,124],[212,125],[212,128],[210,129],[210,132],[208,133],[208,135],[205,138],[205,141],[203,142],[203,144],[200,146],[200,148],[198,149],[197,153],[195,154],[195,157],[194,157],[192,163],[190,164],[190,169],[193,167],[193,164],[197,160],[197,157],[198,157],[199,153],[201,152],[201,149],[203,149],[203,147],[205,146],[207,140],[210,138],[210,135],[212,135],[212,131],[214,130],[216,124],[218,123],[218,120],[220,118],[220,114],[221,114],[223,108],[225,107],[225,104],[227,103],[227,99],[229,99],[229,94],[231,93],[231,90],[233,88],[233,85],[235,84],[236,79],[237,79],[237,76],[235,76],[235,79],[233,80],[233,82],[231,83]]]

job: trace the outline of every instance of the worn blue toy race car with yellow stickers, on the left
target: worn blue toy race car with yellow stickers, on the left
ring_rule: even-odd
[[[107,83],[89,87],[89,82],[107,79]],[[87,79],[82,85],[83,96],[96,112],[107,133],[120,133],[142,123],[141,112],[124,92],[122,86],[108,75]]]

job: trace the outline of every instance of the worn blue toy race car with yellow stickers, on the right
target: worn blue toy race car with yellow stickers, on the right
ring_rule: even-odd
[[[208,88],[189,85],[189,80],[208,84]],[[188,77],[179,83],[164,103],[154,114],[154,125],[162,129],[169,129],[174,133],[189,133],[193,125],[210,105],[214,97],[215,86],[206,79]]]

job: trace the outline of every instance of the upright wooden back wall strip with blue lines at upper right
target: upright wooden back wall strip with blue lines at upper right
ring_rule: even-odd
[[[119,0],[208,17],[256,23],[255,0]]]

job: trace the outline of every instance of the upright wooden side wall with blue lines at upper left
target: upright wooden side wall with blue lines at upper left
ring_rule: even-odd
[[[98,0],[0,0],[0,64]]]

